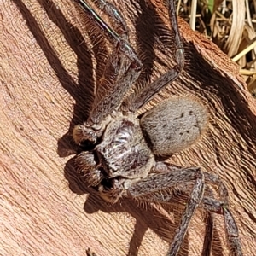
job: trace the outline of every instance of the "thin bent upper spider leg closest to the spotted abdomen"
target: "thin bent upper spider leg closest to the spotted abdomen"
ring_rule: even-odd
[[[158,93],[161,89],[163,89],[167,84],[177,79],[179,74],[183,70],[184,66],[184,49],[183,42],[180,36],[180,32],[177,26],[177,15],[175,10],[174,0],[168,0],[167,6],[169,10],[169,17],[172,23],[172,29],[175,34],[175,44],[176,44],[176,61],[177,65],[173,67],[171,70],[162,74],[158,79],[154,80],[153,83],[145,86],[143,90],[137,94],[137,96],[133,96],[127,102],[125,102],[125,108],[128,110],[135,112],[137,109],[142,108],[143,105],[148,103],[153,96]]]

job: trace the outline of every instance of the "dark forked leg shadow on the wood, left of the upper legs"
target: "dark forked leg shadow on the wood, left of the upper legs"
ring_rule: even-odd
[[[71,120],[70,127],[67,133],[61,137],[58,142],[58,154],[65,157],[70,154],[76,154],[78,147],[73,143],[71,131],[75,124],[82,123],[87,119],[90,104],[93,100],[93,64],[90,49],[84,42],[82,33],[76,26],[73,26],[67,21],[61,9],[55,6],[55,3],[48,0],[38,0],[42,9],[46,12],[49,19],[55,23],[61,30],[62,35],[71,47],[73,52],[77,55],[77,66],[79,71],[79,83],[76,83],[73,77],[67,72],[65,67],[56,54],[54,47],[49,44],[44,31],[38,25],[38,21],[33,17],[30,10],[22,0],[13,0],[17,8],[20,10],[21,15],[33,37],[36,39],[38,46],[44,52],[50,66],[53,68],[63,88],[67,90],[68,94],[75,100],[73,119]],[[86,63],[86,65],[84,65]]]

